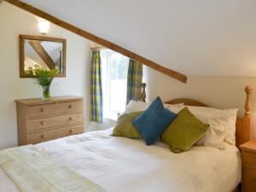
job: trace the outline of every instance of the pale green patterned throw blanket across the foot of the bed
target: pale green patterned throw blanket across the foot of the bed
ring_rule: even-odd
[[[32,145],[0,151],[0,167],[21,192],[106,192]]]

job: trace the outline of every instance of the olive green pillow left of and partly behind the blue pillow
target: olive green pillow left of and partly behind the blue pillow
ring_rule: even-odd
[[[113,129],[112,136],[115,137],[128,137],[132,139],[142,139],[143,137],[137,131],[136,127],[132,125],[132,120],[136,119],[142,111],[140,112],[131,112],[131,113],[123,113],[119,116],[116,125]]]

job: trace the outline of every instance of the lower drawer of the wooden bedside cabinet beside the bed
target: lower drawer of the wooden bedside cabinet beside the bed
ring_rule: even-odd
[[[243,192],[256,192],[256,169],[244,167]]]

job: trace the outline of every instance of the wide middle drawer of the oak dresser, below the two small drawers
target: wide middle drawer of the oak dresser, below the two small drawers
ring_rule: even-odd
[[[27,131],[38,131],[55,126],[83,124],[83,113],[65,114],[55,117],[27,120]]]

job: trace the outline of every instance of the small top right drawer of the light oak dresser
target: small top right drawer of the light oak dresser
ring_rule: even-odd
[[[58,103],[59,113],[73,113],[83,110],[83,101]]]

